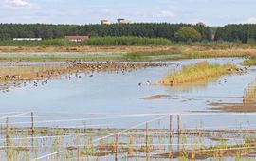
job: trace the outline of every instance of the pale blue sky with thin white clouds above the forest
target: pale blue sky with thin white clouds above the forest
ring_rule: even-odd
[[[125,18],[134,23],[256,24],[256,0],[0,0],[0,23],[99,24]]]

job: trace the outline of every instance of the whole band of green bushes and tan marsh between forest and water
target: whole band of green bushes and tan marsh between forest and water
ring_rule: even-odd
[[[172,43],[161,38],[94,37],[82,43],[73,43],[64,39],[42,42],[0,41],[0,46],[13,46],[0,48],[3,53],[0,54],[0,61],[173,61],[249,56],[254,58],[245,62],[245,65],[255,65],[256,62],[254,45],[226,42],[185,44]],[[9,52],[13,55],[4,54]],[[24,52],[24,54],[15,54],[15,52]],[[36,52],[46,54],[30,54]],[[59,53],[68,54],[59,55]]]

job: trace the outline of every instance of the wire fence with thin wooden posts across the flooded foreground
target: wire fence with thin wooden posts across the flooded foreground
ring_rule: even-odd
[[[31,161],[196,159],[256,152],[254,113],[0,115],[0,155],[7,160],[21,159],[23,152]]]

